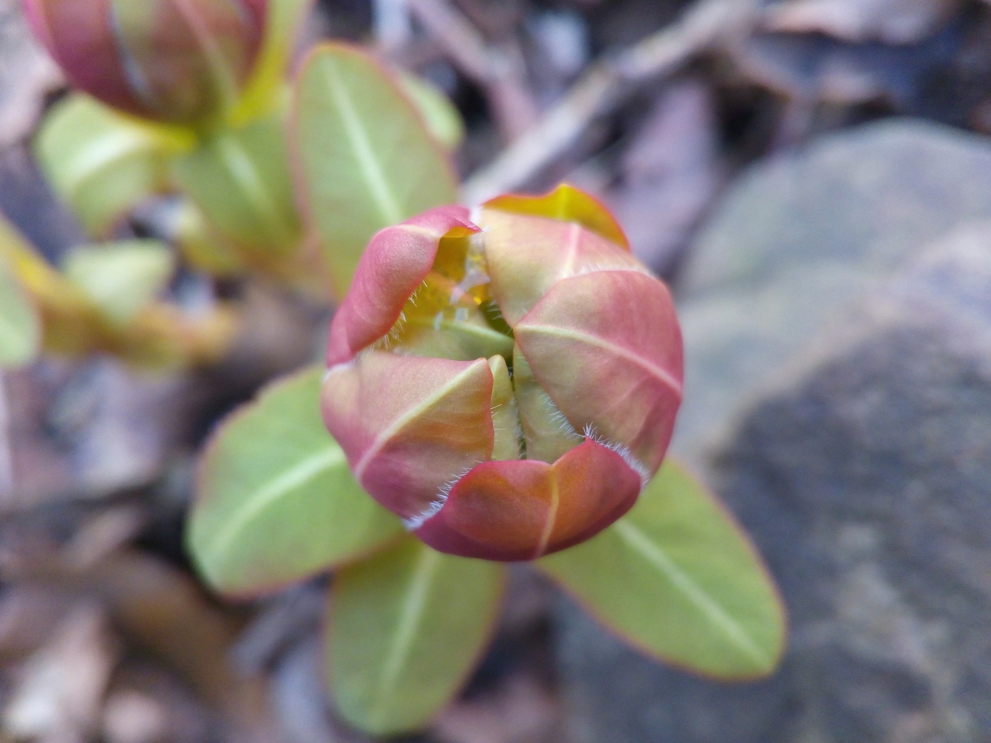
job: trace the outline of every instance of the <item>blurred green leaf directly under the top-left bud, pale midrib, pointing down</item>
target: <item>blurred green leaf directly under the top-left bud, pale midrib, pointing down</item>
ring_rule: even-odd
[[[181,190],[234,242],[274,254],[299,242],[281,113],[222,129],[174,161]]]

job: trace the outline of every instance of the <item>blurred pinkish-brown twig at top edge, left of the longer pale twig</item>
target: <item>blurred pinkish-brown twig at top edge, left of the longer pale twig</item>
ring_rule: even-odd
[[[447,0],[406,0],[409,10],[443,47],[451,61],[489,98],[496,126],[511,142],[537,119],[522,59],[511,45],[490,46],[461,11]]]

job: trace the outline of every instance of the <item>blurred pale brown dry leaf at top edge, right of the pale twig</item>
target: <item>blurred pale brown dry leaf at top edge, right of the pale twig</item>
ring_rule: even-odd
[[[767,9],[767,31],[823,33],[847,42],[913,44],[930,36],[960,0],[793,0]]]

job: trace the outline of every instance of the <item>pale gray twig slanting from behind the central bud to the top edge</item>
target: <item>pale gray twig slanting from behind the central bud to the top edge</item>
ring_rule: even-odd
[[[524,186],[637,85],[748,30],[757,8],[755,0],[701,0],[671,26],[594,64],[535,127],[465,183],[462,200],[478,204]]]

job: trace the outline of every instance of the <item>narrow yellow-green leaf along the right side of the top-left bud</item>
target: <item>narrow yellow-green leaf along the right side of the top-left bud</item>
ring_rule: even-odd
[[[285,84],[285,73],[296,37],[314,0],[270,0],[268,24],[259,54],[238,105],[230,113],[234,127],[266,116],[274,110]]]

